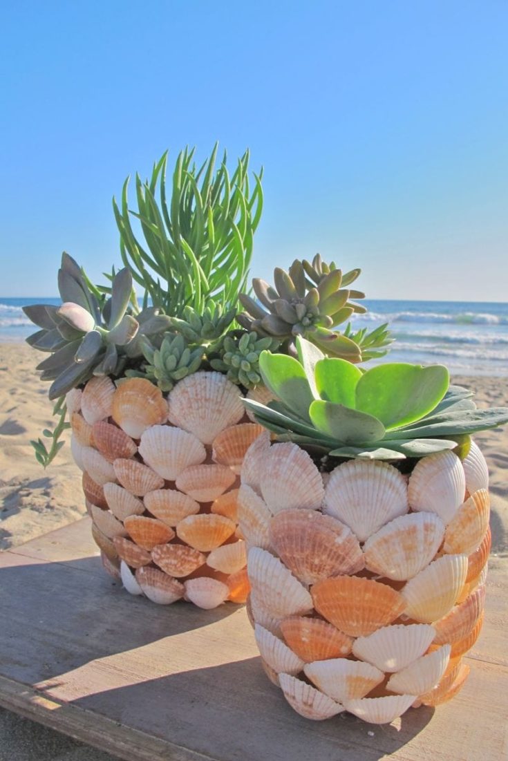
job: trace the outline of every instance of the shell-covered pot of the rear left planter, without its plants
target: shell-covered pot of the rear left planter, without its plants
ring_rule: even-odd
[[[92,533],[106,571],[154,603],[245,602],[238,473],[262,428],[237,386],[200,371],[166,396],[96,377],[67,396]]]

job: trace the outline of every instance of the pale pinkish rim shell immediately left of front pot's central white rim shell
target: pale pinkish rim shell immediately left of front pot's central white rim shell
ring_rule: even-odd
[[[290,441],[274,444],[263,460],[261,494],[271,513],[289,508],[317,510],[325,490],[319,470],[303,449]]]

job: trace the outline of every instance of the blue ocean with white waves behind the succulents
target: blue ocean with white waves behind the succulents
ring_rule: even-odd
[[[58,298],[0,297],[0,342],[22,342],[37,330],[24,304],[59,304]],[[452,373],[508,377],[508,303],[366,299],[367,314],[353,326],[388,322],[395,342],[383,361],[442,363]]]

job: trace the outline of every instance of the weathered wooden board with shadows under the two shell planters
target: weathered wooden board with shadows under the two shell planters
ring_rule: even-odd
[[[508,559],[493,557],[452,702],[383,727],[306,721],[265,677],[243,607],[131,597],[85,518],[0,555],[0,705],[125,761],[506,761],[507,593]]]

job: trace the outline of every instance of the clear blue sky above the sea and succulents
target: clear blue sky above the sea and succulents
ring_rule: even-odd
[[[8,7],[10,6],[10,7]],[[119,263],[111,197],[165,148],[265,166],[252,275],[316,251],[371,298],[506,301],[508,2],[0,10],[0,295]]]

